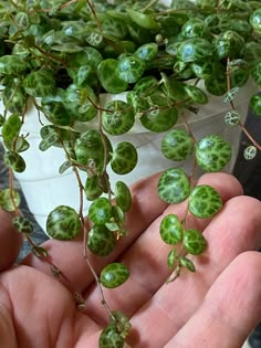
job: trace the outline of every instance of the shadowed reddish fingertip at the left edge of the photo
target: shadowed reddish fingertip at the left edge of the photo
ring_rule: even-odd
[[[17,260],[23,238],[12,225],[13,215],[0,209],[0,272]]]

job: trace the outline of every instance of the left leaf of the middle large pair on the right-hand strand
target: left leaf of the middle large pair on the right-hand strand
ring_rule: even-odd
[[[180,203],[190,193],[190,182],[182,169],[169,168],[159,178],[158,194],[167,203]]]

